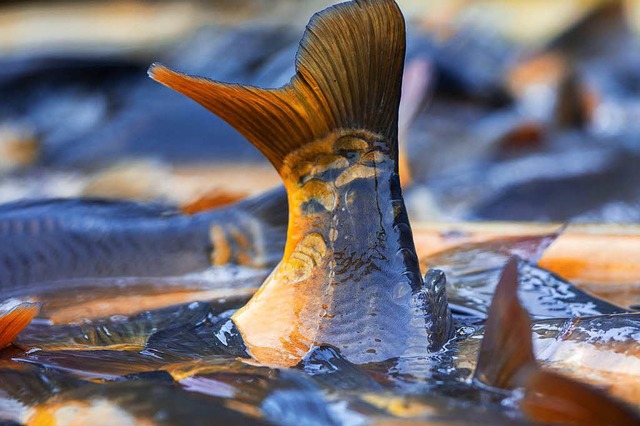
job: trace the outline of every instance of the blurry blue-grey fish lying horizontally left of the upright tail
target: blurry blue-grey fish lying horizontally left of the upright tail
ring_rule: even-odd
[[[284,245],[283,205],[282,189],[193,216],[162,205],[99,199],[5,204],[0,289],[10,294],[72,278],[177,276],[208,268],[223,250],[225,263],[273,266]],[[216,226],[230,231],[214,242]]]

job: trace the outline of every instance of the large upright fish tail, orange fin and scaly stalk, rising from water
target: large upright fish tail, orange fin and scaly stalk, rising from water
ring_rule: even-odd
[[[233,316],[260,362],[295,365],[323,344],[356,363],[382,361],[450,337],[435,331],[450,329],[446,297],[424,285],[398,177],[404,53],[396,3],[359,0],[312,18],[280,89],[149,70],[234,126],[287,188],[284,257]]]

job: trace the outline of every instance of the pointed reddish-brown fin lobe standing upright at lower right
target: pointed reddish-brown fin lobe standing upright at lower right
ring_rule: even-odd
[[[518,260],[512,257],[489,308],[475,378],[489,386],[510,389],[528,368],[537,368],[531,319],[518,300]]]

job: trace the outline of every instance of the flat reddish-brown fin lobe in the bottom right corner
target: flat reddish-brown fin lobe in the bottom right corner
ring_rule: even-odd
[[[549,371],[536,370],[521,385],[520,407],[530,419],[544,424],[637,425],[638,413],[600,389]]]

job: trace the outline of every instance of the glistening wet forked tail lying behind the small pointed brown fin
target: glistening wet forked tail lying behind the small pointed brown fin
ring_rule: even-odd
[[[507,237],[467,243],[425,256],[421,263],[426,268],[438,268],[447,274],[449,304],[455,312],[479,318],[487,317],[498,277],[511,256],[520,259],[518,269],[522,285],[518,292],[524,306],[535,319],[629,312],[592,296],[536,265],[544,250],[558,235]]]

